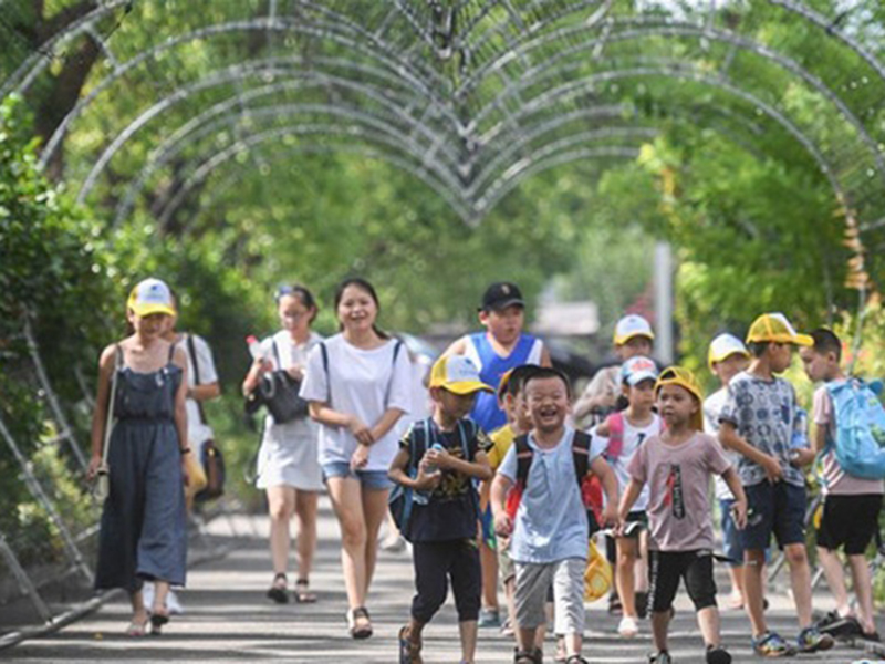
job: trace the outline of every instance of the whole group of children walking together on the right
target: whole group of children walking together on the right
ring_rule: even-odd
[[[636,636],[647,611],[655,645],[649,661],[669,664],[667,632],[683,580],[697,611],[705,661],[731,662],[719,635],[711,477],[725,540],[719,558],[731,566],[730,603],[747,610],[757,654],[826,650],[846,624],[877,637],[863,553],[877,528],[882,481],[839,468],[834,409],[823,387],[814,396],[818,433],[809,446],[795,392],[777,375],[800,346],[812,380],[844,380],[832,332],[799,334],[782,314],[769,313],[753,322],[747,345],[720,335],[709,361],[722,387],[705,401],[690,371],[658,371],[650,325],[629,315],[615,331],[623,364],[600,372],[572,405],[566,376],[550,365],[541,342],[522,332],[523,308],[516,284],[488,289],[480,308],[486,331],[457,341],[434,365],[434,412],[412,425],[392,465],[391,479],[412,501],[399,526],[413,543],[417,590],[399,633],[402,664],[421,662],[421,631],[445,602],[449,581],[462,662],[473,662],[483,587],[491,581],[497,592],[499,572],[516,636],[513,661],[542,662],[552,600],[556,660],[585,662],[584,575],[589,540],[600,528],[610,529],[616,542],[618,633]],[[579,416],[594,412],[607,414],[587,432],[575,426]],[[804,535],[803,467],[815,453],[823,455],[825,477],[818,543],[837,600],[837,610],[819,625],[812,623]],[[478,522],[485,523],[479,532]],[[794,643],[766,623],[772,533],[790,566],[800,626]],[[491,569],[480,554],[483,546],[497,549]],[[856,616],[834,553],[843,546],[858,590]],[[636,573],[639,562],[648,566],[647,595],[646,573]]]

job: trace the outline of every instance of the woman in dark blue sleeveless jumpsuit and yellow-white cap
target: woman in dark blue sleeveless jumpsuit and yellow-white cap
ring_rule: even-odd
[[[169,288],[146,279],[127,303],[133,334],[102,353],[92,423],[90,476],[102,464],[104,430],[116,373],[114,423],[107,452],[111,490],[102,512],[95,588],[123,588],[132,599],[126,633],[158,633],[169,621],[169,584],[185,584],[187,453],[185,352],[162,334],[175,312]],[[142,585],[155,581],[154,604],[144,605]]]

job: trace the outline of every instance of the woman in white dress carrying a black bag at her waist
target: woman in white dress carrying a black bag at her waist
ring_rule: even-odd
[[[253,397],[261,381],[270,380],[274,371],[287,372],[292,378],[292,390],[296,391],[298,383],[304,378],[308,353],[322,341],[311,330],[317,308],[306,288],[281,287],[275,301],[282,330],[261,342],[259,356],[242,384],[247,398]],[[317,425],[306,413],[289,422],[275,422],[270,413],[264,419],[256,485],[267,491],[270,512],[274,577],[268,596],[280,604],[289,601],[289,522],[293,513],[298,526],[298,577],[293,598],[300,603],[316,601],[316,595],[310,591],[310,571],[316,548],[316,504],[323,488],[317,434]]]

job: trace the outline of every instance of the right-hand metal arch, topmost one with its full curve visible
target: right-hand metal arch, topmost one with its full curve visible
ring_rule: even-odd
[[[633,23],[634,21],[627,20],[626,23]],[[572,28],[569,29],[570,31],[576,31]],[[783,68],[787,71],[795,74],[800,79],[802,79],[805,83],[816,90],[820,94],[822,94],[831,104],[836,106],[846,122],[854,127],[854,129],[858,133],[861,141],[866,145],[870,149],[870,153],[873,157],[873,160],[876,163],[876,168],[878,170],[879,177],[883,178],[883,183],[885,183],[885,159],[883,159],[882,154],[877,148],[877,142],[866,131],[865,125],[861,122],[861,120],[854,114],[854,112],[845,105],[845,103],[836,95],[826,84],[823,83],[820,79],[814,76],[811,72],[805,70],[799,63],[793,61],[792,59],[785,58],[780,53],[764,46],[763,44],[758,44],[751,40],[746,40],[740,35],[736,35],[733,33],[729,33],[726,31],[719,31],[712,28],[696,28],[691,24],[668,24],[668,25],[654,25],[648,29],[642,30],[627,30],[622,32],[616,32],[613,34],[608,34],[605,39],[605,42],[612,41],[629,41],[634,39],[642,39],[645,37],[655,35],[655,37],[691,37],[691,38],[706,38],[712,41],[719,41],[721,43],[726,43],[729,45],[738,46],[756,53],[761,58],[769,60],[777,65]],[[542,42],[548,35],[541,37],[538,39],[539,42]],[[518,94],[519,91],[527,89],[529,85],[538,84],[539,82],[543,81],[545,77],[543,76],[543,72],[545,70],[551,70],[552,66],[555,64],[556,61],[581,53],[586,50],[592,50],[596,45],[601,43],[601,39],[594,38],[589,40],[585,43],[572,44],[568,49],[563,49],[555,53],[554,55],[548,58],[545,61],[541,62],[537,66],[532,68],[532,71],[527,72],[523,76],[520,77],[519,82],[511,87],[504,87],[504,90],[497,95],[493,100],[488,102],[483,108],[477,114],[476,122],[479,123],[483,120],[483,117],[493,108],[498,107],[500,103],[503,102],[504,98],[511,96],[513,94]],[[582,63],[571,63],[566,69],[577,69],[581,66]],[[555,70],[556,74],[561,74],[563,68],[558,68]]]

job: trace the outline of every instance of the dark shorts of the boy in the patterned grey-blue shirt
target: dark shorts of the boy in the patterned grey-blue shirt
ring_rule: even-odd
[[[740,531],[746,551],[764,551],[774,533],[778,546],[805,543],[805,487],[785,481],[743,487],[749,511],[747,527]]]

